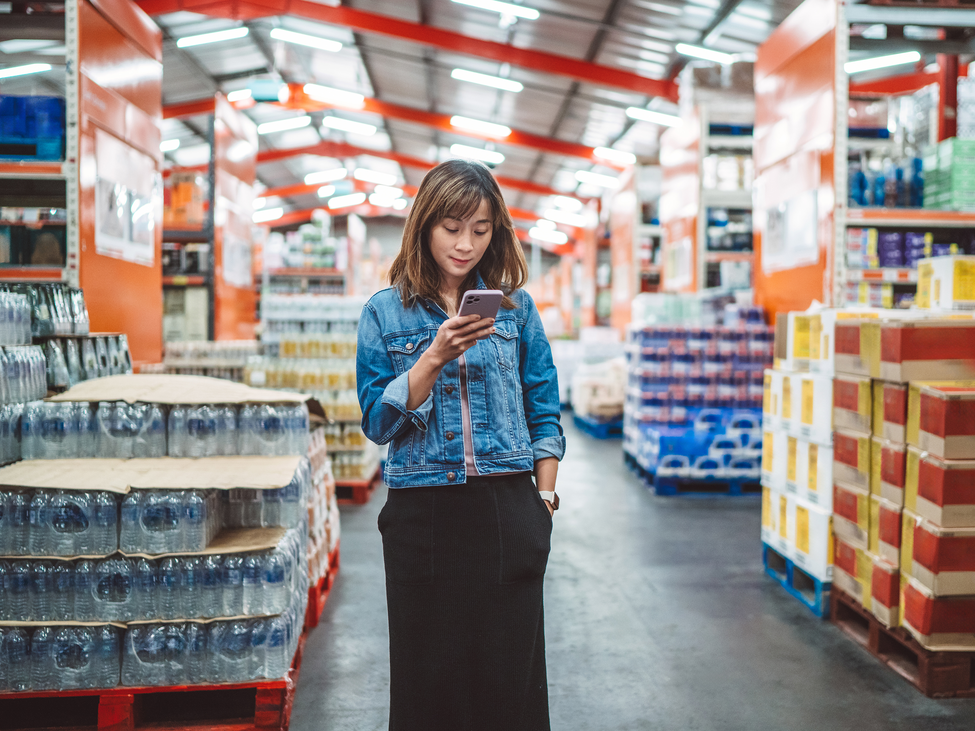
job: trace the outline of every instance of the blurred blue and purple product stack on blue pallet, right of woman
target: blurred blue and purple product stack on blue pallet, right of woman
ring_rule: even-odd
[[[623,450],[658,495],[759,491],[762,373],[772,331],[760,309],[722,326],[630,331]]]

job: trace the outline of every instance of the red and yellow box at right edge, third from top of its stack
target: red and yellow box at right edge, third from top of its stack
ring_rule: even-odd
[[[975,527],[975,460],[908,447],[904,504],[942,528]]]

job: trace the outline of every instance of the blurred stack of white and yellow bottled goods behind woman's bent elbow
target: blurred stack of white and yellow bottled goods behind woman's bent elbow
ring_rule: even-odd
[[[362,503],[379,480],[379,451],[366,439],[356,395],[356,329],[365,300],[266,295],[265,355],[249,358],[244,382],[314,396],[328,412],[325,439],[339,500]]]

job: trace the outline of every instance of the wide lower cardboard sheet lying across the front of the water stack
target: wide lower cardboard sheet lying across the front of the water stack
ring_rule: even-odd
[[[217,379],[213,379],[217,380]],[[0,485],[52,490],[131,489],[271,490],[284,487],[301,457],[200,457],[198,459],[47,459],[0,468]]]

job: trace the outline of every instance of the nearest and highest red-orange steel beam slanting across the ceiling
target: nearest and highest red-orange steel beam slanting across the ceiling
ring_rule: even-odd
[[[400,20],[389,15],[370,13],[348,7],[330,7],[308,0],[140,0],[139,6],[149,15],[162,15],[188,10],[204,15],[230,18],[260,18],[272,15],[291,15],[398,40],[410,41],[466,56],[488,58],[498,63],[563,76],[594,86],[618,89],[663,97],[677,101],[677,84],[673,80],[650,79],[630,71],[601,66],[577,58],[546,53],[530,48],[518,48],[507,43],[435,28],[423,23]]]

